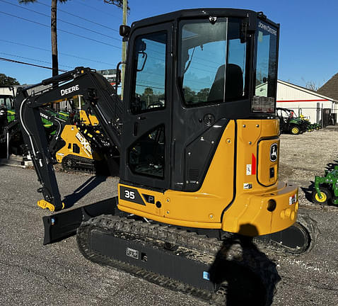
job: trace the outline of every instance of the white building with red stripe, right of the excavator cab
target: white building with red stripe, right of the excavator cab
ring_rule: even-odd
[[[328,108],[331,113],[338,113],[337,100],[281,80],[277,81],[276,107],[292,109],[296,115],[305,115],[311,123],[322,120],[322,109]]]

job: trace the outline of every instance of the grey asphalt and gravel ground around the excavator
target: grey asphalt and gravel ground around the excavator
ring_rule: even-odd
[[[316,174],[337,160],[338,131],[281,135],[280,179],[300,186],[301,212],[317,222],[312,251],[267,254],[281,280],[272,305],[338,305],[338,208],[308,200]],[[75,237],[42,246],[35,171],[0,166],[0,305],[209,305],[81,256]],[[63,196],[85,205],[115,196],[117,178],[58,172]]]

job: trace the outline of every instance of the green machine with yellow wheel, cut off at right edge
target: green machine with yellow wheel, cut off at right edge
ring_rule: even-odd
[[[324,176],[315,176],[312,199],[320,205],[338,205],[338,166],[332,171],[325,170]]]

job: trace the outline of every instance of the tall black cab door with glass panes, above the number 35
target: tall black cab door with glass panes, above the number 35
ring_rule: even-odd
[[[168,189],[170,183],[172,24],[139,28],[129,38],[122,127],[122,182]]]

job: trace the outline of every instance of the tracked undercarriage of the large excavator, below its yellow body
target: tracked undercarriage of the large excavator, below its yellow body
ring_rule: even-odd
[[[112,213],[90,217],[82,210],[76,239],[83,256],[216,305],[271,305],[280,278],[265,254],[298,255],[315,243],[315,223],[306,216],[270,237],[223,232],[217,239],[117,208]]]

